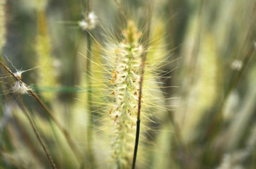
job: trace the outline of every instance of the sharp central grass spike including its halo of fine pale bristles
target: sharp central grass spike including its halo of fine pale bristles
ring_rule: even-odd
[[[163,106],[163,94],[160,91],[161,87],[158,86],[161,82],[157,82],[160,78],[166,78],[166,73],[168,73],[158,70],[162,65],[169,63],[166,61],[166,52],[163,51],[163,46],[160,44],[162,38],[158,37],[158,40],[156,40],[156,36],[150,37],[149,40],[146,40],[150,41],[149,48],[147,48],[146,45],[144,46],[141,43],[142,36],[146,35],[141,34],[134,21],[128,20],[127,28],[122,30],[122,42],[118,42],[115,35],[110,35],[105,47],[98,44],[100,46],[99,50],[103,49],[105,53],[103,58],[106,60],[106,64],[98,63],[98,61],[92,62],[93,65],[100,67],[100,73],[105,72],[103,73],[104,77],[108,77],[108,79],[100,79],[95,75],[97,73],[95,69],[92,69],[94,70],[93,81],[100,82],[100,86],[105,88],[107,92],[107,95],[101,92],[93,97],[100,98],[103,95],[102,99],[98,101],[99,113],[100,110],[107,109],[107,112],[104,112],[105,115],[100,115],[103,118],[107,115],[107,120],[103,120],[104,124],[101,123],[102,126],[99,130],[105,129],[107,137],[111,135],[110,138],[105,138],[109,142],[109,151],[104,154],[110,159],[110,168],[132,168],[132,163],[134,163],[134,141],[138,124],[137,115],[143,65],[145,73],[143,87],[141,87],[141,89],[143,88],[143,95],[141,95],[141,133],[136,167],[144,165],[147,156],[145,152],[149,152],[146,147],[153,143],[151,142],[153,139],[151,134],[155,132],[153,127],[158,125],[159,120],[154,118],[156,111],[161,109],[163,113],[168,109]],[[160,53],[157,51],[161,51],[161,56],[158,56]],[[144,61],[143,56],[145,54],[150,56],[149,62]],[[97,58],[93,56],[93,59]],[[93,82],[93,84],[95,83]],[[103,108],[103,106],[105,107]],[[151,129],[149,126],[151,126]],[[95,137],[100,137],[100,140],[103,140],[101,136],[98,136],[98,133]],[[100,144],[106,149],[106,144],[102,142],[96,144]],[[98,154],[97,151],[96,154]],[[100,154],[103,156],[103,153]],[[102,159],[97,157],[97,161],[102,161]]]

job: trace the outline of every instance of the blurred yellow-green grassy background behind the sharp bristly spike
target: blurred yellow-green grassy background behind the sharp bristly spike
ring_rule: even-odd
[[[13,94],[1,67],[0,168],[51,168],[28,117],[57,168],[106,168],[109,81],[98,44],[119,39],[122,11],[142,33],[151,20],[148,59],[162,101],[137,168],[256,168],[256,1],[158,0],[151,17],[150,1],[119,4],[91,1],[98,24],[88,41],[78,25],[86,0],[0,0],[0,61],[13,73],[33,69],[22,80],[60,123],[30,94]]]

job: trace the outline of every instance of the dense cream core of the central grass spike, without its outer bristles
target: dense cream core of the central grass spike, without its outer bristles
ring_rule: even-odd
[[[139,44],[141,33],[129,21],[127,30],[122,32],[124,40],[115,49],[116,70],[112,70],[114,85],[112,94],[115,104],[110,109],[110,118],[115,132],[112,141],[112,168],[130,166],[136,133],[136,115],[141,75],[141,54]]]

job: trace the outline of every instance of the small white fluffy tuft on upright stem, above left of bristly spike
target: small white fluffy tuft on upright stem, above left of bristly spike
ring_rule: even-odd
[[[90,12],[88,14],[87,19],[82,19],[78,21],[78,26],[81,27],[82,30],[93,30],[98,23],[98,17],[94,12]]]

